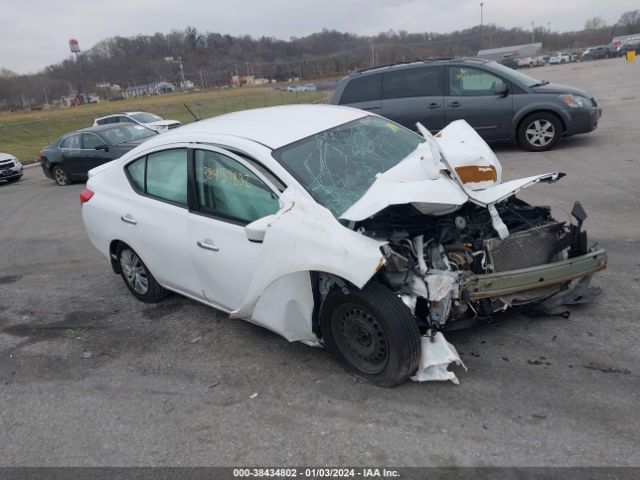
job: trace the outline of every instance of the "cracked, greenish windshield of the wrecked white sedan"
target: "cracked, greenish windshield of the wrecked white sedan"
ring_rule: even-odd
[[[424,139],[395,123],[365,117],[274,152],[318,203],[340,217]]]

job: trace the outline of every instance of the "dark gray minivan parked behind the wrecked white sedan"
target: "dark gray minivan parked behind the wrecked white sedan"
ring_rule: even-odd
[[[331,101],[437,132],[466,120],[487,141],[553,148],[598,125],[601,109],[584,90],[554,85],[481,59],[454,58],[377,67],[342,79]]]

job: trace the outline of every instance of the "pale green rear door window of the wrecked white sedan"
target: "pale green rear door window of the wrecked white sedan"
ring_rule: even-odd
[[[174,149],[147,157],[147,193],[187,205],[187,150]]]

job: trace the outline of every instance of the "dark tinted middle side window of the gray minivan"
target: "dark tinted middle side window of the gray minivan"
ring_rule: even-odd
[[[444,94],[444,67],[405,68],[384,74],[385,99],[405,97],[435,97]]]

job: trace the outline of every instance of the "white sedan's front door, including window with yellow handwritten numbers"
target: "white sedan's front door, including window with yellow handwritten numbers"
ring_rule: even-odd
[[[278,211],[278,196],[249,162],[226,150],[194,152],[196,208],[189,219],[189,248],[200,297],[225,311],[242,305],[262,252],[244,226]]]

